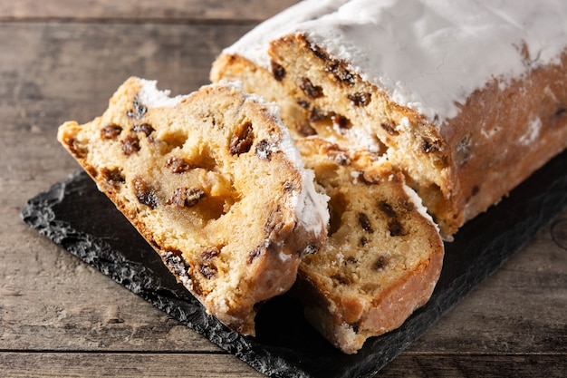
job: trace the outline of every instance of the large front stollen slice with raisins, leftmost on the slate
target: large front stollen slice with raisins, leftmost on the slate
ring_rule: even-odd
[[[277,108],[235,84],[171,98],[132,77],[101,117],[64,123],[58,139],[207,312],[242,334],[326,237],[326,197]]]

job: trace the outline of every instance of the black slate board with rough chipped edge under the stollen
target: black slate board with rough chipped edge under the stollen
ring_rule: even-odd
[[[257,316],[257,336],[230,332],[176,283],[158,255],[91,179],[77,171],[30,199],[22,218],[73,255],[111,276],[213,343],[274,377],[370,377],[502,265],[567,207],[567,151],[466,224],[446,243],[443,272],[427,305],[398,330],[341,354],[303,320],[289,296]]]

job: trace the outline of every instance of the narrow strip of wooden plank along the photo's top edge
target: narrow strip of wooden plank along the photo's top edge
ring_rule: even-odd
[[[259,22],[298,0],[17,0],[0,2],[0,20],[129,21],[225,20]]]

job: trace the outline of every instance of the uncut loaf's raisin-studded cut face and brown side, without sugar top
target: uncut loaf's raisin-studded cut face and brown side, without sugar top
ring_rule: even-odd
[[[300,135],[345,146],[374,140],[447,238],[567,147],[567,52],[559,64],[532,68],[526,61],[523,77],[479,88],[440,127],[389,101],[348,62],[301,34],[274,40],[269,54],[277,77],[241,56],[221,55],[211,78],[242,80],[280,103],[284,121]]]

